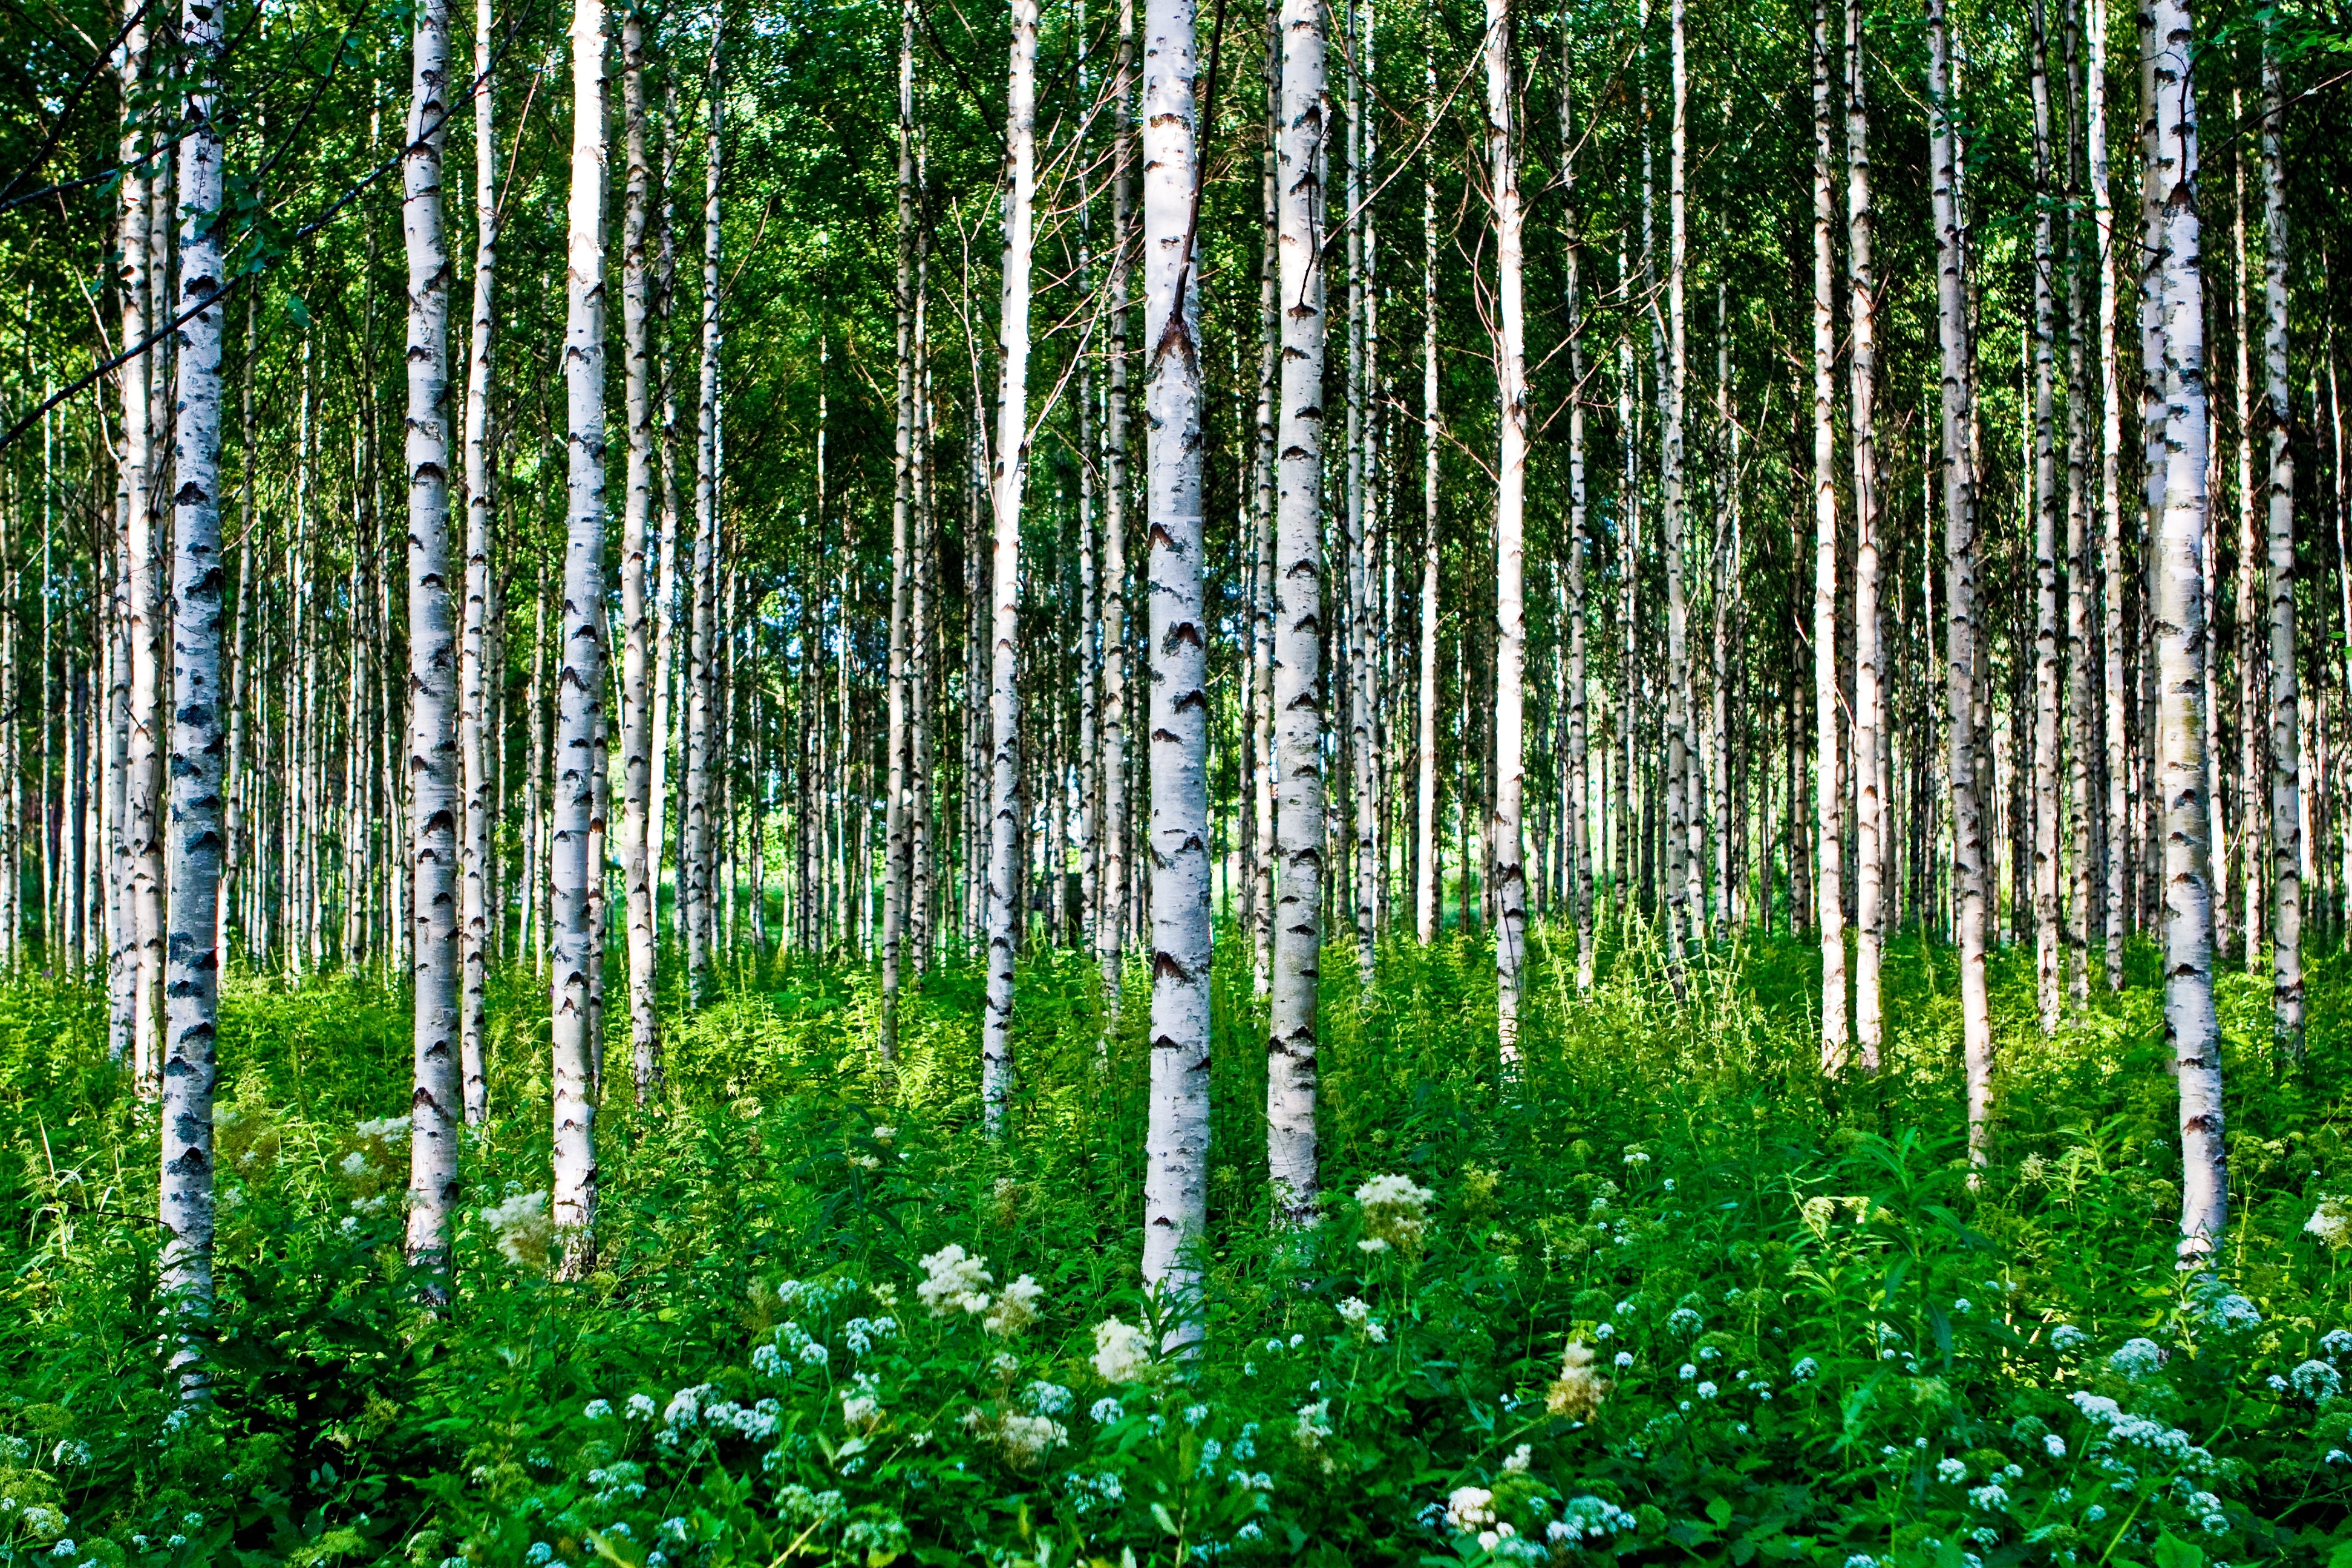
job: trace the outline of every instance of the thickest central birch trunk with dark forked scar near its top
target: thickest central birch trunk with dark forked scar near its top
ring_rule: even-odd
[[[1025,5],[1028,0],[1016,0]],[[1192,0],[1143,9],[1143,341],[1152,442],[1152,1086],[1143,1286],[1200,1335],[1209,1218],[1209,625],[1202,604],[1200,106]],[[1011,268],[1007,268],[1009,273]]]

